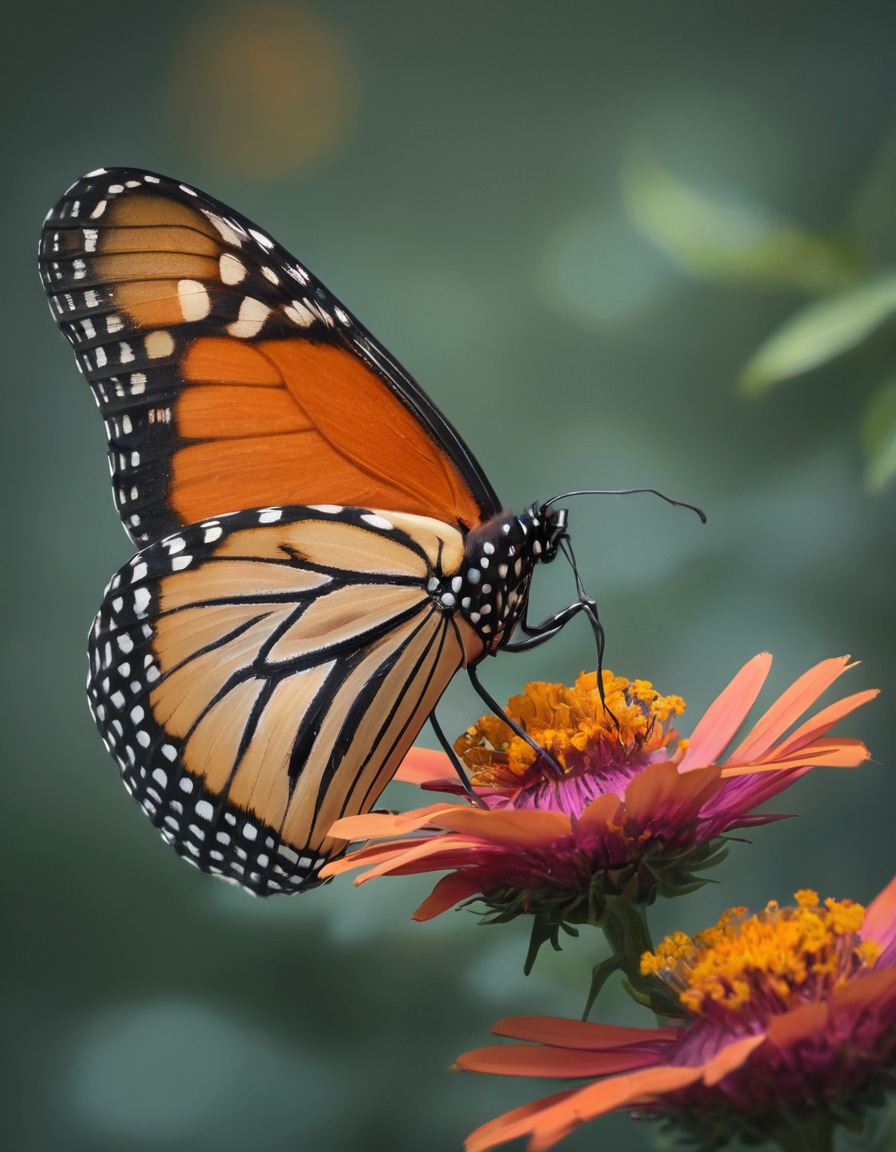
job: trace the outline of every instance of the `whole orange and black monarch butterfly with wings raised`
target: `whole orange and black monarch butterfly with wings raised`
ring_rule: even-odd
[[[579,611],[599,629],[582,589],[526,616],[567,514],[504,511],[350,312],[187,184],[88,174],[40,271],[142,550],[90,632],[102,740],[185,859],[259,895],[313,887],[347,847],[333,820],[370,810],[461,667]]]

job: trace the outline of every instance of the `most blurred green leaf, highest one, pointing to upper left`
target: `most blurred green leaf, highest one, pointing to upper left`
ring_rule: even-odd
[[[643,143],[631,145],[623,161],[622,195],[645,236],[707,279],[823,293],[855,282],[863,271],[864,259],[846,237],[813,235],[762,205],[708,196]]]

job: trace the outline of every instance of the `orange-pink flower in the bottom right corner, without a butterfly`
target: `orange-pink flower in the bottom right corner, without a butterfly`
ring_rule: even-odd
[[[896,1083],[896,879],[867,911],[808,890],[796,900],[757,916],[732,909],[693,940],[676,933],[645,955],[645,975],[686,1015],[675,1026],[500,1021],[495,1032],[530,1043],[468,1052],[458,1068],[590,1082],[489,1121],[468,1152],[519,1136],[542,1152],[615,1109],[712,1134],[712,1146],[739,1136],[830,1149],[835,1122],[860,1122]]]

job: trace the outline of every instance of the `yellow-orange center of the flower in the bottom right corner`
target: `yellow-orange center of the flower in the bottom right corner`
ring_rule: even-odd
[[[783,1010],[800,999],[841,987],[855,972],[873,968],[880,945],[859,937],[865,909],[851,900],[795,894],[796,908],[772,901],[755,916],[731,908],[715,927],[667,937],[645,952],[644,976],[659,976],[678,992],[693,1015],[722,1009]]]

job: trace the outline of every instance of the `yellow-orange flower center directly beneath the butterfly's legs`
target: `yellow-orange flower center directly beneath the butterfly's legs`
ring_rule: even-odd
[[[572,688],[536,681],[510,698],[507,714],[565,774],[631,763],[677,736],[668,723],[684,711],[681,696],[660,696],[650,681],[607,669],[602,683],[603,699],[595,672],[583,672]],[[536,750],[499,717],[483,717],[454,746],[480,787],[519,787],[545,775]]]

